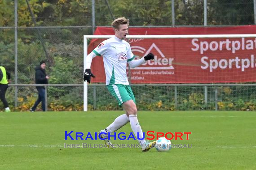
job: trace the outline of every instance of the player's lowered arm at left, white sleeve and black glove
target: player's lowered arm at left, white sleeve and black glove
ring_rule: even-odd
[[[106,52],[106,49],[107,49],[106,43],[102,42],[89,55],[86,56],[84,81],[91,83],[91,76],[95,77],[91,72],[91,64],[92,64],[93,58],[96,57],[97,55],[102,56]]]

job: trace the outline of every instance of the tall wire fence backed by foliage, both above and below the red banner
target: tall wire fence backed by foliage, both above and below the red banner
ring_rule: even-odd
[[[256,23],[256,0],[1,0],[0,65],[11,72],[11,84],[34,84],[35,67],[44,59],[50,84],[81,85],[83,35],[93,34],[96,26],[110,26],[119,16],[127,17],[131,27],[250,25]],[[214,87],[207,92],[204,86],[132,87],[140,110],[214,110],[216,103],[219,109],[228,109],[221,105],[229,100],[228,92],[221,92],[229,91],[226,87],[218,87],[217,102]],[[254,86],[239,87],[230,86],[230,98],[252,102]],[[82,110],[82,86],[47,91],[49,110]],[[7,98],[12,108],[26,110],[37,91],[10,86]],[[245,108],[232,103],[231,110]],[[89,86],[88,104],[89,109],[120,109],[104,86]]]

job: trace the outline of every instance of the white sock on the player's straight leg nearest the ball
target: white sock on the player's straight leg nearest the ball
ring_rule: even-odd
[[[131,124],[131,127],[132,127],[132,131],[134,133],[134,135],[137,137],[137,134],[139,133],[139,138],[142,139],[143,138],[143,132],[141,130],[141,125],[139,124],[139,121],[137,119],[137,115],[129,115],[129,118],[130,118],[130,124]],[[145,139],[143,140],[139,140],[139,143],[141,144],[144,144],[146,142]]]

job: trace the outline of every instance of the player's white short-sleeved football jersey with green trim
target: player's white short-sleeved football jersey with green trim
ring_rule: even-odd
[[[135,57],[129,43],[114,36],[100,43],[93,52],[103,56],[106,85],[129,85],[126,66]]]

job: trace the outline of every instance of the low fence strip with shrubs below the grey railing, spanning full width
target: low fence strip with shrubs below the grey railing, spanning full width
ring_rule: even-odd
[[[14,90],[14,85],[10,85],[6,96],[12,108]],[[132,85],[132,90],[138,110],[256,110],[255,84]],[[49,85],[46,96],[47,110],[84,110],[83,85]],[[34,85],[19,85],[16,110],[29,110],[36,98]],[[88,110],[122,110],[122,107],[106,85],[89,85]]]

